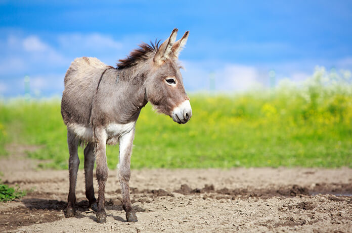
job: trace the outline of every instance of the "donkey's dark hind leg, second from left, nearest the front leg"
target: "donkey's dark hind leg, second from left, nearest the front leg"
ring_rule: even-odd
[[[98,211],[97,199],[94,196],[93,168],[95,162],[94,144],[88,143],[84,148],[84,177],[85,177],[85,197],[89,200],[89,207]]]

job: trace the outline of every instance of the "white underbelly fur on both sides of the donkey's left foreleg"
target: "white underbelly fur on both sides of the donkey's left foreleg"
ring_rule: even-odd
[[[133,130],[136,122],[130,122],[127,124],[116,124],[111,123],[104,127],[104,130],[107,134],[106,143],[109,145],[115,145],[118,143],[118,139],[121,135],[128,133]],[[91,127],[86,127],[81,124],[69,124],[67,128],[76,135],[77,138],[86,141],[93,142],[93,133],[94,130]]]

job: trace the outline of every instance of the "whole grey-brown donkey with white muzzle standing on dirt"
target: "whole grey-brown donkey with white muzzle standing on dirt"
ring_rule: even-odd
[[[70,189],[66,217],[75,214],[75,188],[79,165],[77,147],[84,148],[85,196],[90,208],[97,212],[97,221],[106,222],[104,209],[105,184],[108,178],[106,144],[119,143],[119,179],[122,207],[126,219],[136,222],[137,216],[129,198],[130,156],[135,125],[141,108],[147,102],[174,122],[187,123],[192,116],[189,97],[180,73],[178,56],[189,32],[175,41],[177,29],[159,46],[141,44],[113,68],[94,57],[75,59],[65,75],[61,114],[67,126],[70,154]],[[97,161],[98,201],[94,195],[93,168]]]

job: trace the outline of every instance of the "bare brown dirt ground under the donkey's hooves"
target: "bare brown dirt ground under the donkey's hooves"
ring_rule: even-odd
[[[21,155],[23,148],[13,150]],[[125,220],[118,171],[110,170],[107,222],[100,224],[85,199],[83,170],[77,216],[65,218],[68,171],[36,170],[36,161],[20,155],[0,158],[2,180],[30,192],[0,203],[0,232],[352,232],[346,167],[133,170],[136,223]]]

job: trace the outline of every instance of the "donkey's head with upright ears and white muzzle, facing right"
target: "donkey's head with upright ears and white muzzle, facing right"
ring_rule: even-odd
[[[156,52],[152,53],[149,65],[151,69],[145,81],[146,94],[158,112],[169,115],[174,122],[187,123],[192,116],[189,97],[182,81],[178,57],[186,44],[188,34],[175,41],[177,29],[160,47],[156,45]]]

